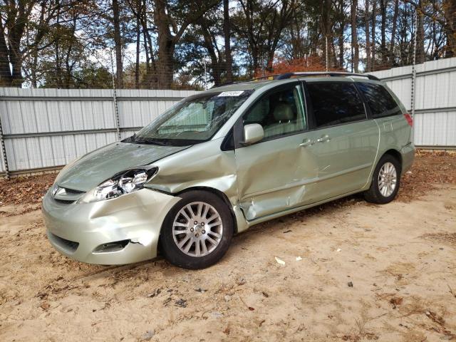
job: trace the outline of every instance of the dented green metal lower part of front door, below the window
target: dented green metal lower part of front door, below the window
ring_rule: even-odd
[[[309,133],[260,142],[236,150],[239,206],[248,220],[312,202],[318,165]]]

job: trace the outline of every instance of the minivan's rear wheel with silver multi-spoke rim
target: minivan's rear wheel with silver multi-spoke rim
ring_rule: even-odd
[[[391,202],[398,195],[400,172],[400,162],[393,155],[383,155],[373,172],[371,187],[364,192],[366,201],[376,204]]]

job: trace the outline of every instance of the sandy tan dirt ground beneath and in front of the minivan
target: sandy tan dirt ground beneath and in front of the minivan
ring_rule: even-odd
[[[72,261],[39,202],[4,203],[0,341],[456,341],[456,184],[413,177],[420,196],[275,219],[200,271]]]

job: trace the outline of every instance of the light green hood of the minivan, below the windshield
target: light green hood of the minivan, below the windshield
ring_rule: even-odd
[[[72,190],[88,191],[118,172],[130,167],[148,165],[188,146],[159,146],[114,142],[94,150],[57,176],[56,184]]]

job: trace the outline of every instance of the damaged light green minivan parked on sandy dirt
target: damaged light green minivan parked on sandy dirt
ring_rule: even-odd
[[[43,198],[48,239],[93,264],[160,252],[201,269],[254,224],[357,192],[392,201],[413,163],[412,125],[374,76],[286,73],[214,87],[64,167]]]

